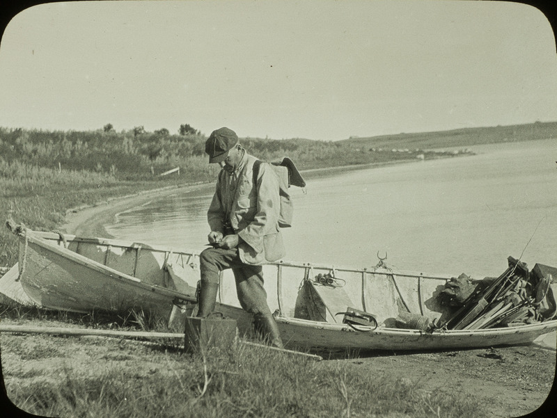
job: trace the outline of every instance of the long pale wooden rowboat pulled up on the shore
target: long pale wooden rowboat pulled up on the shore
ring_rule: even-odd
[[[19,282],[36,305],[74,312],[143,310],[170,318],[178,323],[178,329],[185,316],[195,313],[199,278],[195,252],[24,227],[12,229],[19,236]],[[510,270],[515,273],[511,268],[507,273]],[[542,271],[556,270],[542,266]],[[460,329],[448,329],[446,324],[457,318],[455,308],[443,305],[439,294],[455,276],[395,271],[382,262],[371,268],[348,268],[281,261],[265,265],[264,276],[269,307],[275,312],[281,337],[293,348],[454,350],[528,344],[557,330],[551,306],[549,316],[546,310],[545,317],[538,315],[531,323],[482,327],[480,324],[505,317],[505,312],[503,307],[496,312],[501,305],[498,300],[488,310],[473,298],[469,298],[475,303],[469,312],[478,311],[475,321],[460,320]],[[503,286],[511,279],[502,275],[499,282]],[[549,305],[551,300],[554,304],[557,284],[551,274],[544,280],[543,296]],[[237,319],[240,332],[248,334],[251,316],[240,309],[234,283],[230,271],[221,273],[217,311]],[[519,312],[520,307],[524,303],[506,305],[505,310]],[[351,312],[367,312],[374,321],[353,325],[350,319],[361,316],[350,316]],[[417,319],[415,326],[406,323],[401,328],[401,316]]]

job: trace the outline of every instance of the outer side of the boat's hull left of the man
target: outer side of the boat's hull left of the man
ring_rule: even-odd
[[[192,295],[142,282],[48,241],[27,236],[21,242],[22,288],[41,307],[70,312],[136,310],[167,316],[176,298]]]

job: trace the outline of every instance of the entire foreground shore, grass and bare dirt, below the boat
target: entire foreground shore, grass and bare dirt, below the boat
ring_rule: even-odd
[[[164,330],[141,314],[3,309],[3,323]],[[554,351],[320,353],[237,344],[185,353],[180,339],[1,335],[7,394],[52,417],[509,417],[542,405]]]

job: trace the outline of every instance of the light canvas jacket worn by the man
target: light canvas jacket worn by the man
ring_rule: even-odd
[[[207,211],[212,231],[224,231],[225,220],[240,238],[238,252],[246,264],[265,264],[284,257],[280,230],[278,179],[268,163],[261,163],[257,186],[253,187],[256,157],[244,152],[238,168],[221,170],[217,188]]]

